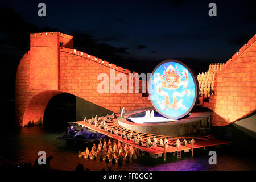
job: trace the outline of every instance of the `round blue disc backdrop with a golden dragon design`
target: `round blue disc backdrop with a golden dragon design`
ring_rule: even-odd
[[[167,60],[152,72],[149,93],[152,105],[160,114],[178,119],[187,115],[195,105],[198,84],[185,64]]]

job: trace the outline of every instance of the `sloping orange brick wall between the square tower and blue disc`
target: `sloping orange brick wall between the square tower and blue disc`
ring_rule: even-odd
[[[99,93],[97,86],[102,80],[97,80],[97,77],[101,73],[106,73],[109,77],[110,88],[111,69],[114,70],[115,76],[118,73],[125,73],[128,86],[128,73],[130,73],[128,69],[117,67],[117,65],[110,64],[108,61],[103,61],[80,51],[60,48],[60,90],[63,90],[63,92],[82,97],[115,113],[119,113],[122,107],[131,111],[151,106],[148,97],[142,97],[142,93],[134,93],[134,90],[133,93],[128,93],[128,88],[126,89],[127,93],[110,93],[110,89],[109,93]],[[118,82],[119,80],[115,80],[115,84]],[[133,85],[135,85],[134,81]]]

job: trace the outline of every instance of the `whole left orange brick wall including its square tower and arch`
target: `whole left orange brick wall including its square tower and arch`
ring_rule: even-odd
[[[128,79],[130,71],[76,51],[72,36],[36,33],[30,35],[30,42],[30,51],[20,60],[16,73],[16,121],[20,126],[43,123],[49,100],[60,93],[79,96],[115,113],[122,107],[131,111],[152,106],[142,93],[98,93],[98,74],[110,78],[110,69],[114,69],[115,76],[125,73]]]

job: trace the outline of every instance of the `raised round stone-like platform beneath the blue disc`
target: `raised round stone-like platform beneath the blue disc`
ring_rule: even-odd
[[[154,107],[147,107],[139,110],[133,110],[123,115],[123,118],[118,118],[118,125],[125,127],[126,129],[136,131],[145,134],[155,135],[167,135],[173,137],[185,137],[185,136],[197,136],[197,135],[209,135],[212,127],[212,112],[195,112],[191,113],[189,117],[171,121],[171,122],[159,122],[159,123],[134,123],[129,121],[129,117],[133,115],[143,115],[145,111],[154,110]],[[128,118],[128,120],[127,120]]]

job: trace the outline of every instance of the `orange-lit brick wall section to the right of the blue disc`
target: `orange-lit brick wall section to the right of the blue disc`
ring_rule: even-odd
[[[214,95],[204,106],[213,110],[213,125],[224,126],[256,109],[256,35],[216,73]]]

